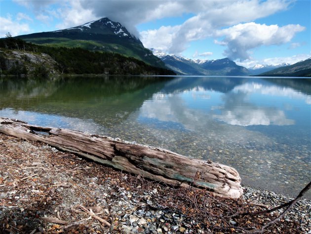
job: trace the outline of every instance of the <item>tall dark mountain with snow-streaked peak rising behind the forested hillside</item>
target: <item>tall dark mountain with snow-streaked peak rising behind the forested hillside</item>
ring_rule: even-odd
[[[164,63],[120,23],[108,18],[52,32],[21,35],[17,38],[52,47],[81,47],[91,51],[106,51],[134,57],[150,65],[164,68]]]

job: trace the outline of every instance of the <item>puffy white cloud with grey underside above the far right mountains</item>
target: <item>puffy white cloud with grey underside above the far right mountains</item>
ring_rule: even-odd
[[[218,30],[215,35],[217,37],[225,37],[222,40],[222,45],[227,47],[224,52],[227,57],[246,60],[250,58],[250,49],[288,43],[297,32],[303,30],[305,30],[305,27],[299,24],[279,27],[278,25],[250,22]]]

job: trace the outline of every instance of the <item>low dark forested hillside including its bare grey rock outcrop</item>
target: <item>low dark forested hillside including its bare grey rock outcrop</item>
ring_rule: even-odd
[[[46,58],[48,62],[46,62]],[[21,39],[0,40],[0,68],[4,75],[107,74],[174,75],[141,60],[117,53],[83,48],[46,47]]]

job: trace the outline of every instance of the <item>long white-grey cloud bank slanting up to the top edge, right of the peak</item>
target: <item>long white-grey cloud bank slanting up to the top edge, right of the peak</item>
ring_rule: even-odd
[[[196,1],[194,1],[196,2]],[[187,48],[191,41],[201,40],[208,37],[219,37],[215,31],[222,27],[230,27],[241,22],[248,22],[258,18],[271,15],[277,11],[285,10],[290,1],[285,0],[248,0],[248,1],[200,1],[192,8],[195,15],[183,24],[179,25],[178,31],[172,33],[161,27],[159,31],[168,31],[170,34],[170,47],[167,52],[179,54]],[[197,7],[197,8],[196,8]],[[165,40],[163,37],[149,37],[148,34],[156,32],[143,32],[141,38],[143,44],[149,45],[150,41]],[[159,34],[161,35],[161,34]],[[281,36],[281,34],[279,35]],[[228,42],[220,42],[228,45]],[[242,53],[243,58],[247,53]]]

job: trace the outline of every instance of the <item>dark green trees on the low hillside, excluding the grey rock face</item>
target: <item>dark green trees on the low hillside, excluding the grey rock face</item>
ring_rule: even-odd
[[[171,70],[154,67],[141,60],[117,53],[89,51],[83,48],[40,46],[11,37],[0,39],[0,47],[48,54],[58,63],[57,70],[64,74],[175,75]],[[5,74],[3,55],[0,56],[0,66]]]

